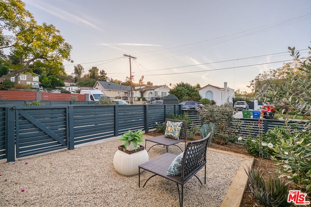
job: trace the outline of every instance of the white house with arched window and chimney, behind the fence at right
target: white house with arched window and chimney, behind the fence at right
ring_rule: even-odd
[[[215,101],[216,105],[222,105],[227,103],[233,104],[234,89],[227,87],[227,82],[224,83],[224,87],[207,85],[198,89],[202,98],[210,101]]]

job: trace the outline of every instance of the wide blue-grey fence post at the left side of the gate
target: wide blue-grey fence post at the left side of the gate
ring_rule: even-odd
[[[14,162],[15,161],[15,106],[13,107],[6,107],[6,124],[5,124],[5,131],[6,131],[6,158],[7,162]]]

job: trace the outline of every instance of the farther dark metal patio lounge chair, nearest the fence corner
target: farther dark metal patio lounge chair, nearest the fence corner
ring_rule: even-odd
[[[149,152],[149,150],[150,150],[152,147],[156,146],[156,145],[163,145],[163,146],[165,146],[165,147],[166,147],[166,152],[167,152],[167,153],[169,152],[169,146],[175,145],[175,146],[179,147],[179,146],[176,145],[176,144],[177,144],[177,143],[180,143],[180,142],[185,142],[185,147],[186,147],[187,124],[188,124],[188,121],[165,119],[165,122],[164,122],[164,130],[165,130],[165,128],[166,128],[167,121],[171,121],[171,122],[183,122],[182,127],[181,127],[181,130],[180,130],[179,139],[166,138],[166,137],[164,137],[164,135],[157,136],[157,137],[153,137],[153,138],[146,138],[146,139],[145,139],[145,149],[146,149],[146,150],[147,150],[147,141],[156,143],[156,144],[152,145],[152,146],[147,150],[147,152]],[[180,149],[181,151],[183,151],[180,147],[179,147],[179,149]]]

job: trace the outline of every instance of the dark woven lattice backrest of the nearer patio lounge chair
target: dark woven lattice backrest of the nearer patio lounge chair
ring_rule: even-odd
[[[207,142],[210,134],[206,138],[187,142],[181,166],[181,178],[184,182],[206,165]]]

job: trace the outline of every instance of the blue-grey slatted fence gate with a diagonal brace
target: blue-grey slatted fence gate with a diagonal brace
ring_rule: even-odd
[[[17,106],[16,157],[69,147],[67,106]]]

